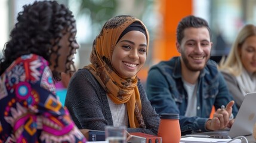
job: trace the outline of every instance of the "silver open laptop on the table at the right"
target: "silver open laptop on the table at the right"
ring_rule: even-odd
[[[235,138],[236,136],[251,135],[256,123],[256,92],[248,93],[239,108],[235,122],[229,130],[195,133],[208,135],[209,138]]]

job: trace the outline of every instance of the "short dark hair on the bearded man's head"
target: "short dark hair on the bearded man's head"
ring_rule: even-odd
[[[189,15],[184,17],[179,23],[176,31],[176,38],[178,43],[181,43],[181,40],[184,38],[184,30],[189,27],[206,27],[209,31],[210,39],[211,39],[211,29],[209,24],[203,18],[195,17],[194,15]]]

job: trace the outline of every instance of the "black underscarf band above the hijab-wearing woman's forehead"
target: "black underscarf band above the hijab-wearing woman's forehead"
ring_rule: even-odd
[[[135,30],[135,31],[140,31],[142,32],[144,35],[146,35],[146,30],[145,28],[141,25],[141,23],[139,22],[134,22],[132,24],[130,24],[123,32],[122,34],[119,36],[118,41],[128,32]],[[147,37],[147,35],[146,35]],[[116,42],[118,43],[118,42]]]

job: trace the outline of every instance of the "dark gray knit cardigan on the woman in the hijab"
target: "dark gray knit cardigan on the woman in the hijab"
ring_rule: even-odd
[[[141,98],[141,114],[146,129],[128,127],[127,131],[157,135],[159,115],[151,106],[139,81],[138,89]],[[80,69],[72,76],[67,89],[65,106],[79,129],[104,130],[106,125],[113,126],[106,92],[87,69]]]

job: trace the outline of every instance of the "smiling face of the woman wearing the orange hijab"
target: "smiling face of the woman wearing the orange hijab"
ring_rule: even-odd
[[[147,38],[144,33],[132,30],[126,33],[112,54],[112,66],[123,78],[135,76],[146,61]]]

